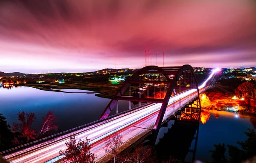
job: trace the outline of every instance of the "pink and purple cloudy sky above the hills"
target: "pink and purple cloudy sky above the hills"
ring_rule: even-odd
[[[256,0],[0,0],[0,71],[142,68],[148,48],[150,65],[256,67]]]

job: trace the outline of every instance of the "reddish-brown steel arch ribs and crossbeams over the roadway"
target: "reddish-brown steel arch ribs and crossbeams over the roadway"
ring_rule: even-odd
[[[155,70],[155,71],[151,71]],[[116,105],[118,100],[129,100],[129,101],[140,101],[140,102],[151,102],[151,103],[162,103],[161,109],[157,116],[156,123],[154,125],[154,129],[158,130],[161,127],[161,123],[163,121],[163,116],[166,111],[167,105],[169,103],[169,99],[172,96],[172,93],[175,93],[175,86],[177,85],[177,81],[180,78],[180,75],[183,74],[184,71],[190,71],[192,76],[194,77],[194,81],[196,84],[196,89],[198,92],[199,98],[199,105],[201,108],[201,101],[200,101],[200,93],[198,89],[198,83],[195,77],[194,70],[190,65],[183,65],[183,66],[175,66],[175,67],[158,67],[158,66],[145,66],[142,69],[136,71],[131,77],[129,77],[125,83],[121,86],[121,88],[116,92],[116,94],[111,99],[110,103],[102,113],[99,119],[104,119],[108,117],[111,113],[112,109]],[[141,74],[163,74],[166,77],[167,81],[155,81],[155,80],[138,80]],[[169,75],[173,76],[172,79],[169,78]],[[138,97],[121,97],[122,94],[125,92],[126,89],[130,86],[131,83],[165,83],[169,84],[169,88],[167,89],[166,95],[163,99],[152,99],[152,98],[138,98]]]

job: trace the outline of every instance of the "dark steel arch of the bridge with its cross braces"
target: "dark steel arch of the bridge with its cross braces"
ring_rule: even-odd
[[[162,76],[165,77],[165,80],[140,80],[140,76],[143,74],[162,74]],[[145,66],[142,69],[139,69],[136,71],[131,77],[129,77],[125,83],[120,87],[120,89],[116,92],[116,94],[111,99],[108,106],[105,108],[104,112],[100,116],[99,119],[104,119],[108,117],[108,115],[111,113],[113,108],[116,106],[118,100],[128,100],[128,101],[138,101],[138,102],[146,102],[146,103],[162,103],[162,106],[160,108],[160,111],[157,116],[157,120],[154,125],[154,130],[158,130],[161,127],[164,114],[166,112],[166,108],[169,103],[169,99],[172,96],[172,94],[176,94],[175,89],[177,90],[177,85],[179,84],[181,79],[183,78],[183,86],[185,89],[185,83],[187,83],[188,89],[197,89],[198,99],[199,99],[199,107],[201,109],[201,101],[200,101],[200,92],[198,89],[198,83],[195,77],[195,72],[190,65],[183,65],[183,66],[173,66],[173,67],[158,67],[158,66]],[[163,98],[156,99],[156,98],[141,98],[141,97],[122,97],[125,90],[128,89],[131,84],[145,84],[145,83],[151,83],[151,84],[160,84],[160,85],[168,85],[167,91],[165,92],[165,95]],[[188,84],[188,83],[191,83]],[[148,89],[148,86],[147,86]],[[187,89],[187,90],[188,90]],[[183,91],[184,91],[183,90]],[[160,90],[161,94],[161,90]]]

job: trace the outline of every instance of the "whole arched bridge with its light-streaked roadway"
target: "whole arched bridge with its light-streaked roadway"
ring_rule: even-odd
[[[216,82],[216,72],[212,71],[204,83],[198,86],[190,65],[146,66],[125,81],[99,120],[0,154],[11,163],[59,162],[63,157],[59,155],[59,151],[64,150],[65,142],[70,136],[75,135],[78,140],[89,138],[93,145],[91,152],[96,155],[96,161],[106,162],[112,157],[103,150],[108,137],[122,134],[124,143],[120,148],[124,150],[149,135],[157,135],[161,126],[173,118],[186,115],[193,119],[193,115],[189,115],[184,109],[193,110],[193,113],[197,113],[200,117],[199,94]],[[134,89],[133,95],[131,88]],[[119,100],[129,101],[129,110],[119,113]],[[139,106],[132,109],[131,102],[138,103]],[[113,110],[116,114],[109,116]]]

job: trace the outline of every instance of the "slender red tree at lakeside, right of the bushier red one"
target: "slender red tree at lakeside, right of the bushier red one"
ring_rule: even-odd
[[[43,117],[43,126],[42,129],[40,131],[40,134],[44,134],[45,132],[49,132],[51,130],[56,130],[58,129],[58,126],[53,124],[57,121],[57,118],[55,116],[53,116],[53,112],[49,111],[46,114],[46,117]]]

